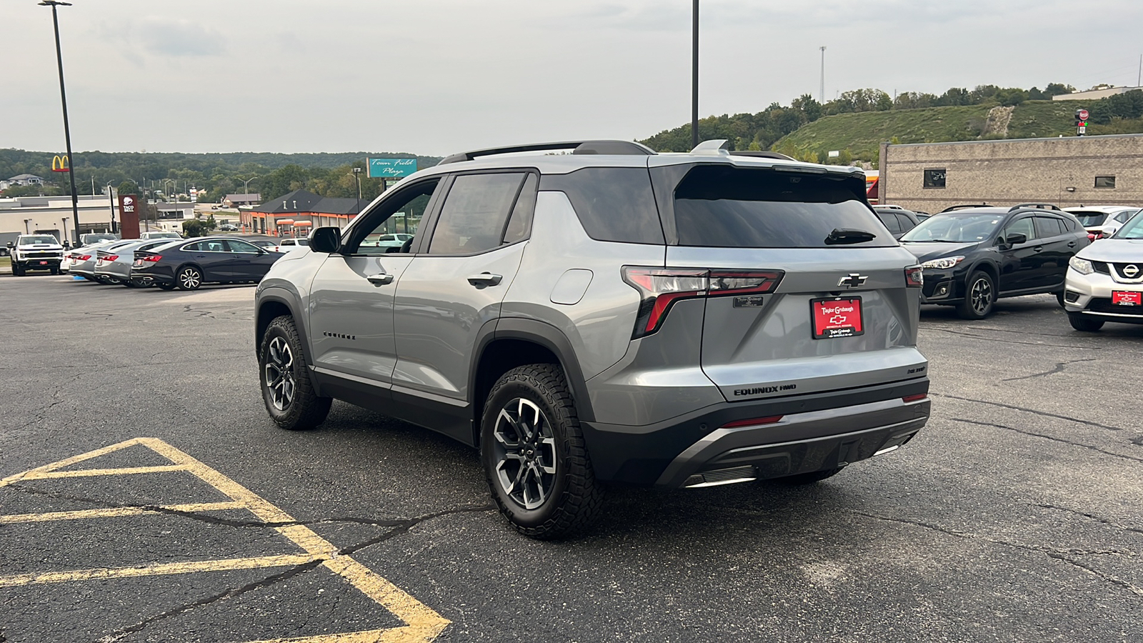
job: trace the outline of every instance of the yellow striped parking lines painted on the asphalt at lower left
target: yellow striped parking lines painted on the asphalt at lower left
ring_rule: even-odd
[[[118,469],[66,469],[66,467],[131,446],[144,446],[150,448],[151,451],[166,458],[170,465],[123,467]],[[336,546],[318,535],[310,527],[298,524],[298,522],[285,510],[238,484],[222,473],[192,458],[190,454],[184,453],[183,451],[179,451],[158,438],[133,438],[105,446],[103,448],[82,453],[80,455],[66,458],[50,465],[37,467],[34,469],[0,479],[0,489],[15,483],[35,479],[170,473],[185,473],[193,475],[223,495],[230,498],[230,501],[85,509],[77,511],[48,511],[41,514],[13,514],[7,516],[0,515],[0,524],[117,518],[144,514],[162,514],[168,511],[216,511],[245,509],[246,511],[253,514],[258,521],[272,525],[274,531],[290,540],[302,551],[290,555],[187,561],[129,567],[95,567],[85,570],[0,575],[0,587],[318,564],[339,575],[359,592],[403,621],[405,625],[384,629],[322,634],[318,636],[265,638],[251,643],[429,642],[434,640],[449,625],[447,619],[441,617],[431,608],[421,603],[389,580],[382,578],[369,567],[366,567],[361,563],[357,562],[352,556],[339,554]]]

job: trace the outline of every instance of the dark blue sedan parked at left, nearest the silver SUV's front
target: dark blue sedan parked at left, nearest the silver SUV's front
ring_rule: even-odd
[[[131,279],[150,280],[166,291],[193,291],[207,283],[256,284],[282,256],[232,237],[185,239],[136,252]]]

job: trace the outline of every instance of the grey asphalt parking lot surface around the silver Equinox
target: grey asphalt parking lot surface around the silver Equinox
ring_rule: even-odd
[[[0,641],[1143,641],[1143,326],[926,308],[905,448],[536,542],[445,437],[277,429],[253,297],[0,277]]]

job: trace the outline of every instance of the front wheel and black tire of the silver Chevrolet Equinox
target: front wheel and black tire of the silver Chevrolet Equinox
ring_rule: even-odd
[[[283,429],[312,429],[326,421],[333,398],[318,397],[294,318],[274,318],[258,347],[262,400],[274,423]]]

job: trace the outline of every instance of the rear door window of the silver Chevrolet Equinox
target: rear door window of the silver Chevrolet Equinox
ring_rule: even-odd
[[[453,181],[430,254],[477,254],[501,245],[523,173],[462,174]]]

